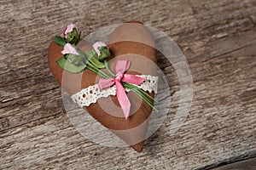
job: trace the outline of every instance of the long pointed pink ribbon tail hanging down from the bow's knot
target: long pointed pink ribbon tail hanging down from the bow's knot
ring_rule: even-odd
[[[118,80],[115,80],[116,85],[116,97],[119,100],[119,104],[125,114],[125,119],[128,118],[131,109],[131,103],[125,93],[125,88]]]

